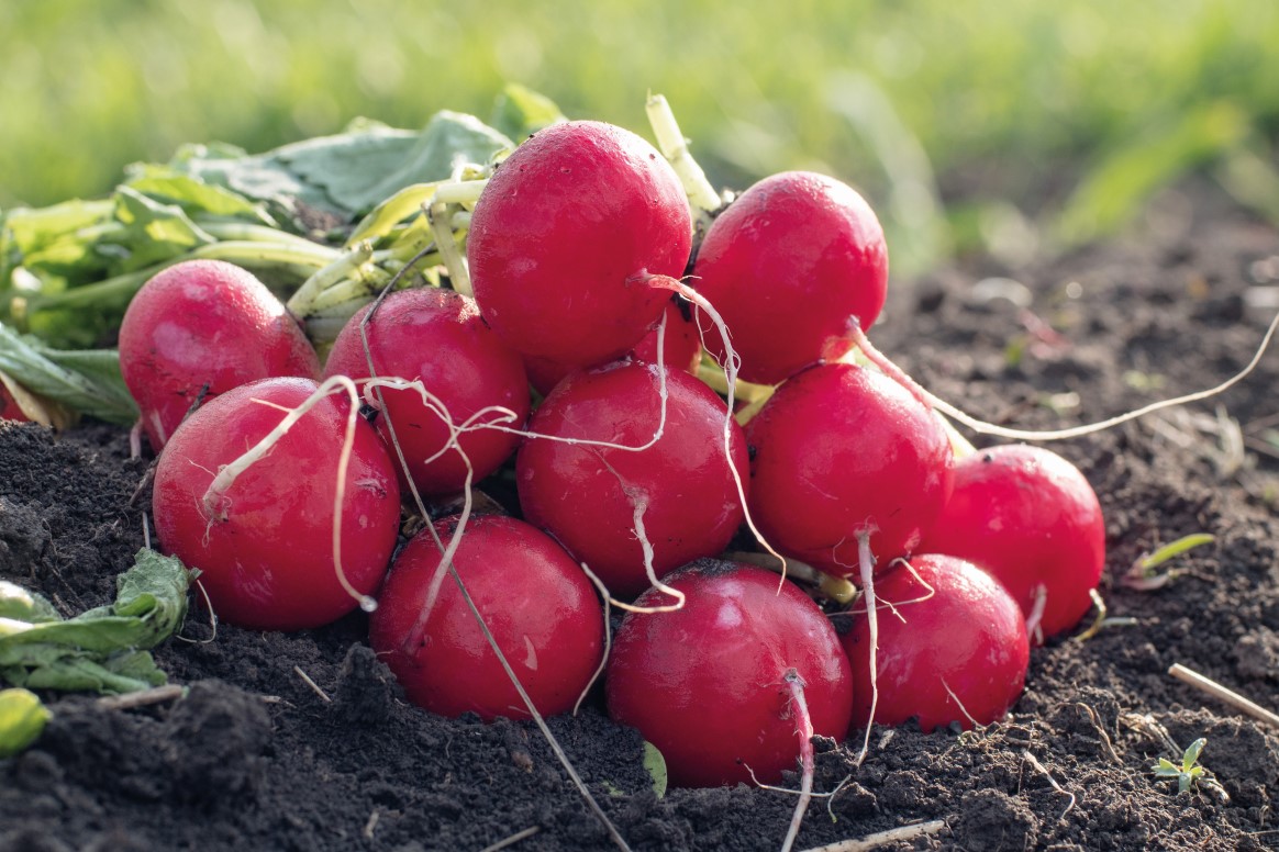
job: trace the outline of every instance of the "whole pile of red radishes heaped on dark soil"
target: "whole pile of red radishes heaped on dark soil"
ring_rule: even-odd
[[[872,719],[1003,717],[1028,636],[1071,628],[1099,581],[1086,480],[1026,446],[955,459],[913,384],[852,356],[888,254],[848,186],[769,178],[696,252],[693,221],[640,137],[547,128],[475,203],[473,298],[394,291],[322,372],[247,273],[160,273],[120,353],[162,447],[162,547],[246,627],[363,603],[372,646],[434,711],[567,711],[606,667],[609,711],[682,784],[775,782],[811,768],[815,733]],[[723,396],[697,378],[701,344]],[[735,411],[738,376],[778,387]],[[472,485],[513,453],[522,520],[472,511]],[[402,502],[459,493],[463,511],[391,562]],[[851,630],[815,589],[716,558],[743,530],[856,579]],[[605,602],[629,609],[606,660]]]

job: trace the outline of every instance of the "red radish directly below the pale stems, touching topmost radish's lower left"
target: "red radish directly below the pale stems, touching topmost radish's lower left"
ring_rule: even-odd
[[[435,287],[390,294],[366,326],[372,372],[359,333],[367,313],[368,308],[361,309],[338,335],[325,374],[421,379],[437,405],[428,406],[414,390],[381,388],[386,410],[376,420],[388,442],[394,428],[418,491],[428,496],[462,491],[467,459],[473,480],[501,466],[519,442],[515,432],[467,429],[449,446],[454,428],[477,414],[477,423],[500,422],[512,429],[528,419],[524,365],[485,324],[475,300]],[[506,415],[499,410],[482,414],[486,409],[504,409]]]

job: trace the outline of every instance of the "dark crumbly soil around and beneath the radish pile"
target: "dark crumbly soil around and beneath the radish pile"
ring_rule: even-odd
[[[1236,372],[1270,318],[1255,296],[1275,284],[1279,234],[1191,184],[1104,245],[1017,268],[967,258],[899,285],[872,337],[978,416],[1068,425]],[[1018,294],[1030,304],[1008,299]],[[1279,732],[1168,674],[1182,663],[1279,705],[1276,376],[1270,353],[1210,402],[1054,445],[1106,513],[1111,621],[1035,650],[1001,723],[877,729],[861,768],[822,743],[817,789],[844,783],[813,803],[798,848],[925,820],[944,825],[893,848],[1279,847]],[[146,470],[116,429],[0,428],[0,577],[68,614],[109,602],[143,543]],[[1163,588],[1120,584],[1142,553],[1201,531],[1215,543],[1177,559]],[[409,852],[519,833],[521,851],[615,848],[533,726],[409,706],[366,626],[356,613],[293,635],[221,625],[211,636],[193,614],[157,653],[184,697],[122,710],[46,695],[43,736],[0,760],[0,849]],[[597,696],[550,726],[632,848],[780,846],[792,796],[742,786],[659,798],[641,738]],[[1228,801],[1204,783],[1178,795],[1151,770],[1198,737]]]

